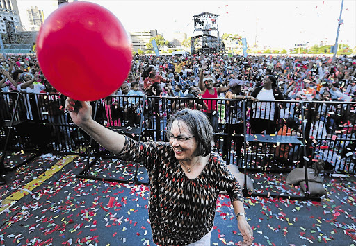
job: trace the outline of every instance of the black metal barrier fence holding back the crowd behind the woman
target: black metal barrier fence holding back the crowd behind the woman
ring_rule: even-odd
[[[312,168],[318,159],[325,161],[325,172],[355,173],[354,103],[108,96],[91,104],[95,121],[142,141],[168,141],[172,113],[202,110],[216,132],[213,151],[244,173],[288,173]],[[72,123],[64,105],[63,95],[1,92],[2,154],[35,150],[115,157]],[[81,175],[88,177],[88,168]]]

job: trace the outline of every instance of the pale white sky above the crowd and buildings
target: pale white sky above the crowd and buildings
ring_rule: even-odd
[[[79,0],[80,1],[80,0]],[[248,44],[266,49],[291,47],[296,43],[321,41],[334,44],[341,0],[88,0],[113,12],[128,32],[156,29],[171,41],[173,33],[193,34],[193,15],[212,12],[220,15],[218,30],[246,37]],[[26,8],[38,6],[47,17],[57,0],[17,0],[22,24]],[[356,1],[344,0],[339,43],[356,46]]]

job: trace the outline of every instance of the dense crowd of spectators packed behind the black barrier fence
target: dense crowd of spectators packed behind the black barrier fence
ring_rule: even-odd
[[[58,104],[54,102],[60,100],[60,105],[64,106],[64,97],[44,78],[35,55],[1,58],[0,73],[2,91],[57,95],[51,97],[52,103],[47,102],[46,107],[40,107],[42,111],[48,111],[47,115],[42,112],[34,114],[31,112],[33,107],[24,103],[27,119],[47,117],[53,123],[63,120],[64,107],[58,110]],[[282,119],[292,118],[289,125],[301,125],[298,103],[286,103],[281,107],[273,103],[275,100],[334,102],[315,106],[310,117],[309,136],[325,139],[341,130],[349,134],[348,139],[353,139],[355,105],[342,103],[355,102],[355,76],[356,57],[346,55],[335,60],[326,56],[289,55],[251,55],[247,58],[220,54],[188,57],[134,55],[127,80],[113,95],[102,100],[102,118],[107,126],[138,127],[141,112],[146,107],[143,115],[145,128],[156,128],[156,132],[162,132],[170,114],[184,108],[198,109],[208,116],[214,132],[225,132],[226,139],[231,140],[232,134],[244,133],[243,99],[252,103],[246,118],[248,133],[255,134],[279,132]],[[143,101],[143,96],[148,99]],[[219,98],[240,100],[226,100],[225,114],[221,114]],[[59,139],[71,139],[70,132],[65,128],[60,132]],[[294,132],[300,134],[301,127]],[[152,139],[165,138],[161,133],[152,135]],[[341,148],[353,143],[341,142]],[[242,144],[241,136],[237,137],[235,150],[238,159]],[[224,141],[223,157],[228,155],[229,145],[229,141]]]

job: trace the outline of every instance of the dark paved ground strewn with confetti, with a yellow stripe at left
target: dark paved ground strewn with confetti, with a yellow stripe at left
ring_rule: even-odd
[[[28,157],[16,153],[6,165]],[[1,245],[154,245],[148,186],[78,179],[85,157],[49,157],[38,157],[6,175],[8,184],[0,186]],[[133,164],[102,160],[90,175],[132,179]],[[284,175],[250,177],[259,193],[289,192]],[[143,168],[138,179],[147,181]],[[327,195],[321,202],[246,197],[254,244],[356,245],[355,176],[325,177],[324,186]],[[113,207],[108,206],[110,200]],[[229,197],[220,195],[211,245],[241,240],[230,205]]]

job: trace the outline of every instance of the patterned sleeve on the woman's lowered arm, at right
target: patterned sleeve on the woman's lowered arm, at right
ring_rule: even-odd
[[[225,161],[220,157],[220,155],[214,155],[213,162],[216,165],[216,177],[218,180],[218,190],[227,191],[230,196],[231,202],[239,200],[243,202],[243,194],[240,184],[238,184],[237,179],[232,175],[232,173],[227,168]]]

